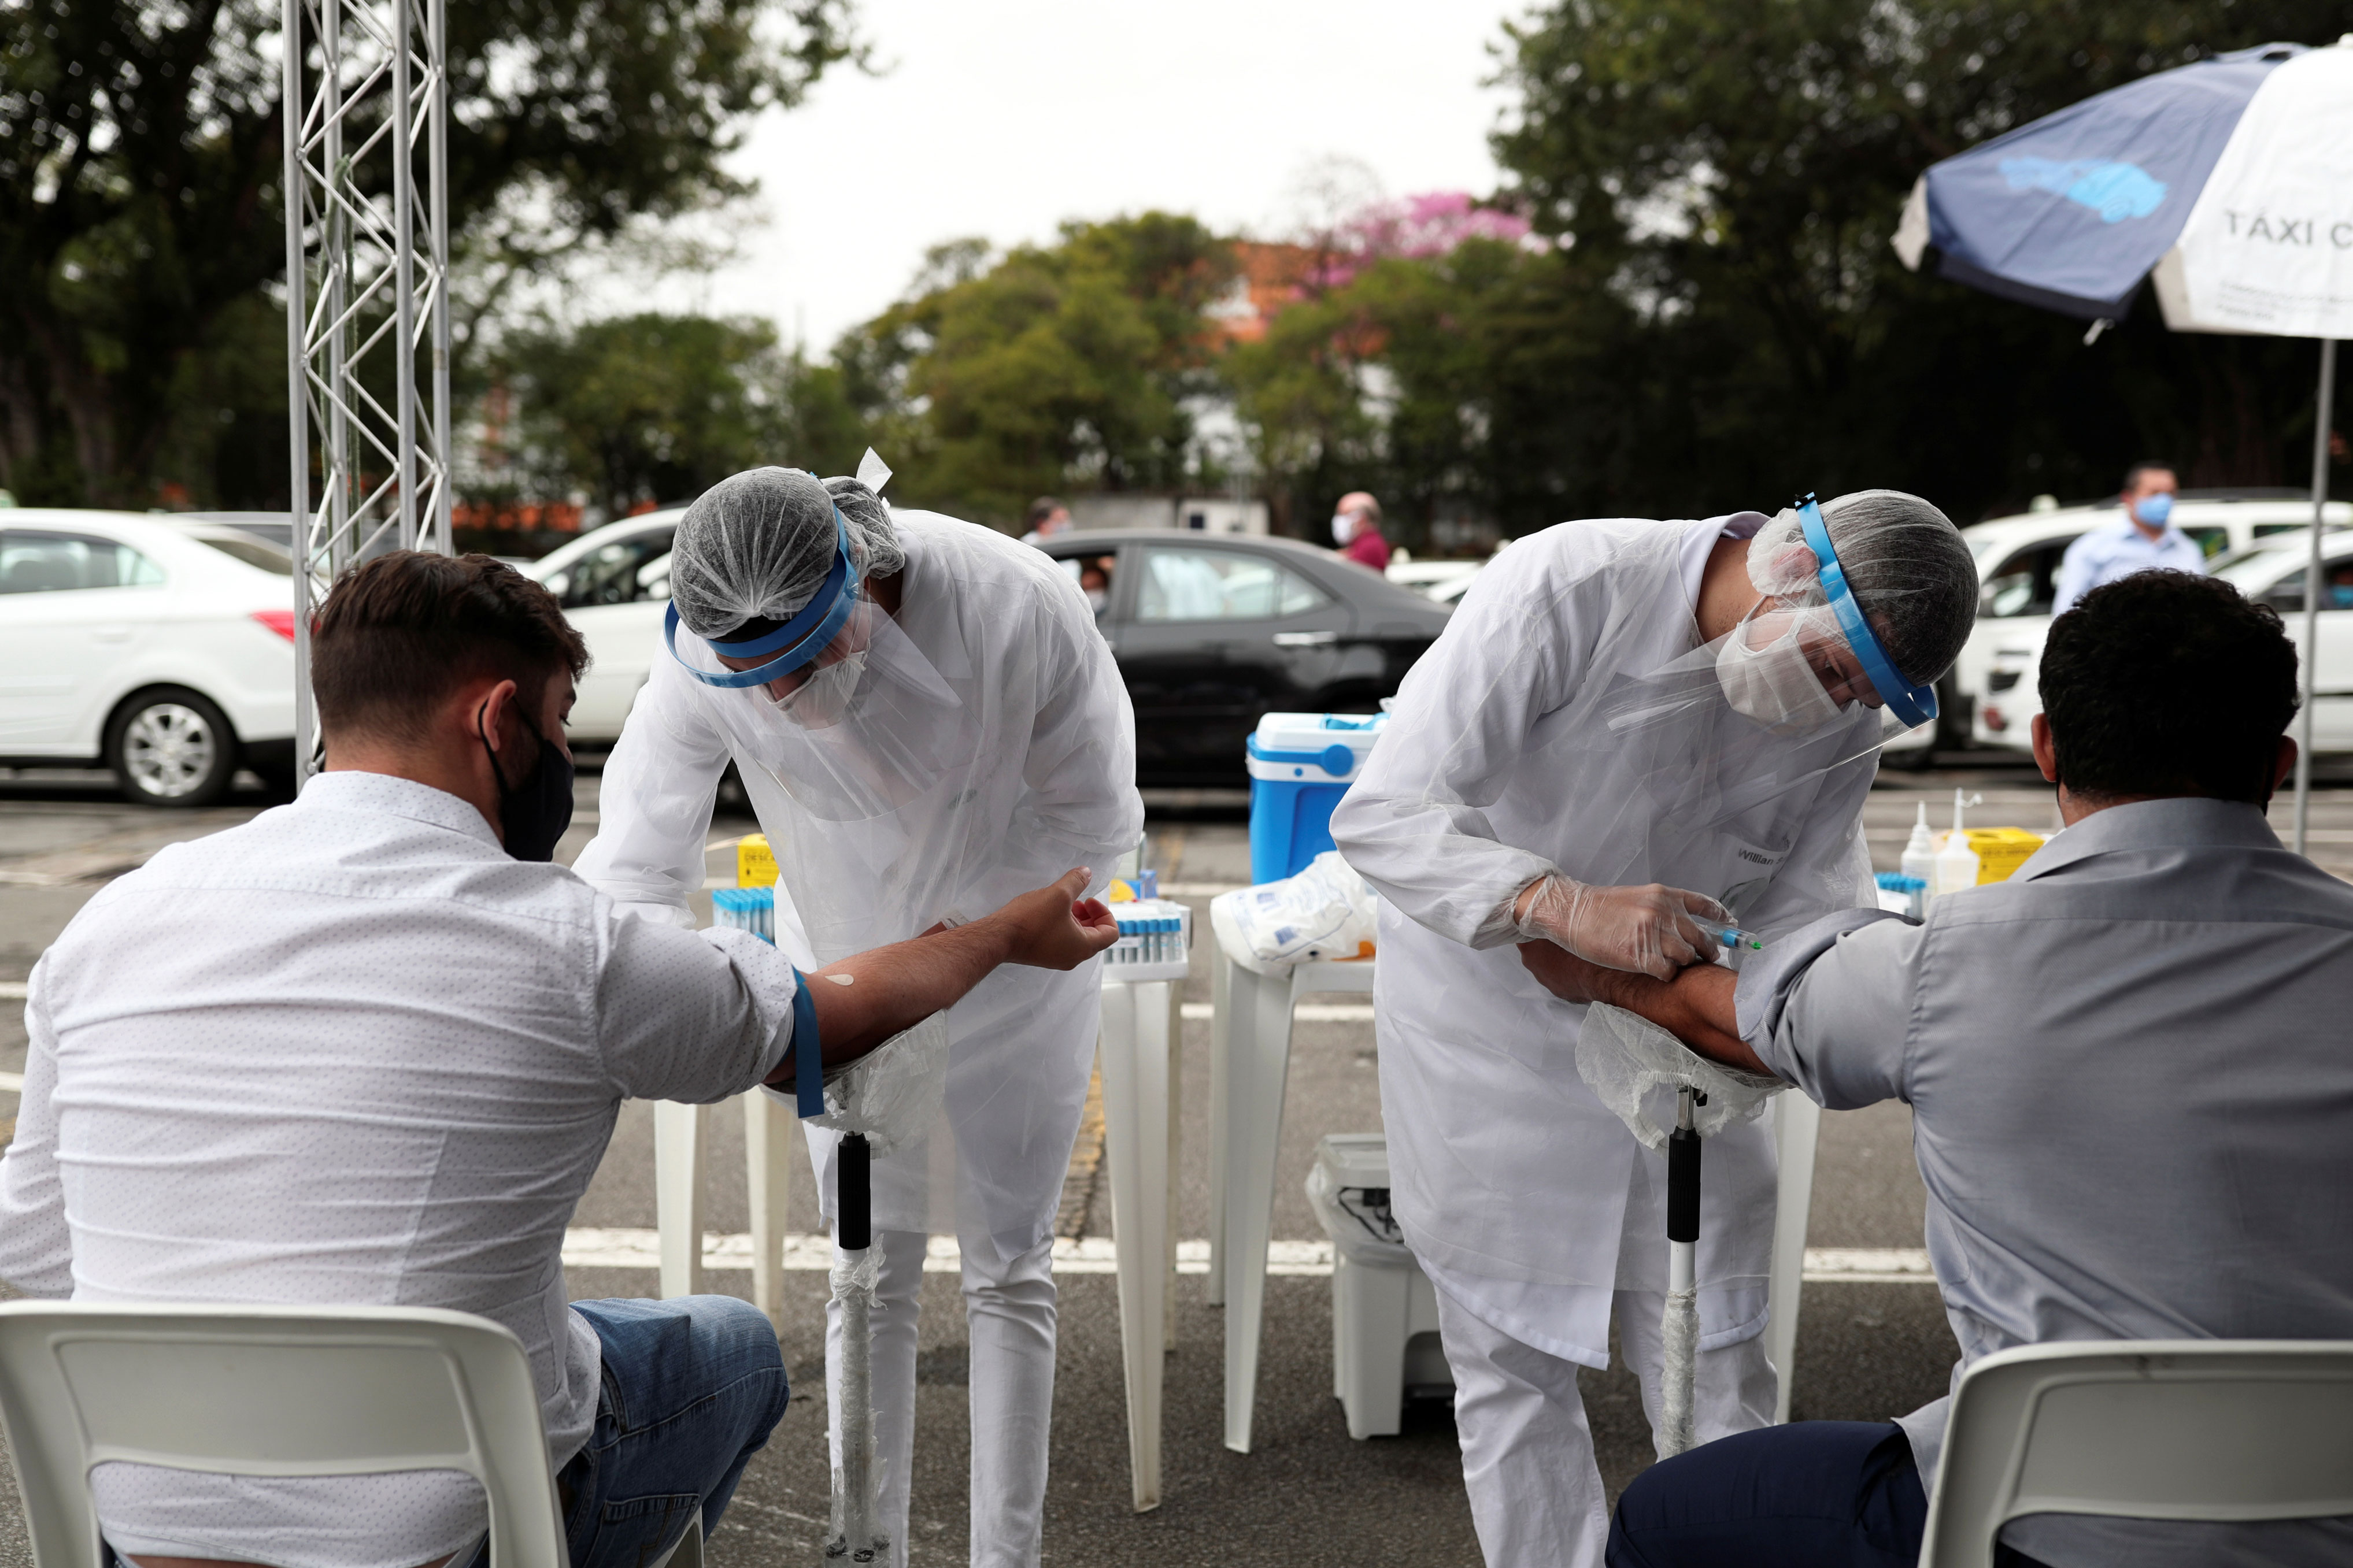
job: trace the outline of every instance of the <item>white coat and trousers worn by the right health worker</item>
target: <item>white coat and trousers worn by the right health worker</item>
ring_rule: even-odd
[[[1762,522],[1565,522],[1513,543],[1405,679],[1332,818],[1348,865],[1381,893],[1374,1020],[1391,1194],[1438,1286],[1489,1568],[1602,1561],[1607,1514],[1577,1368],[1609,1366],[1617,1307],[1657,1427],[1668,1258],[1666,1159],[1579,1077],[1586,1009],[1520,964],[1513,898],[1551,870],[1661,882],[1774,936],[1868,886],[1868,710],[1793,743],[1720,703],[1647,731],[1612,722],[1640,710],[1626,703],[1640,677],[1689,663],[1708,550]],[[1748,788],[1758,762],[1779,783]],[[1673,1107],[1652,1114],[1671,1121]],[[1711,1138],[1699,1441],[1772,1420],[1760,1342],[1772,1220],[1767,1126]]]

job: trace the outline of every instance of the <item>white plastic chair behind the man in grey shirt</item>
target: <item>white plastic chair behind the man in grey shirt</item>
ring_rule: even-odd
[[[1991,1568],[2024,1514],[2353,1514],[2353,1342],[2106,1340],[1986,1356],[1953,1389],[1920,1568]]]

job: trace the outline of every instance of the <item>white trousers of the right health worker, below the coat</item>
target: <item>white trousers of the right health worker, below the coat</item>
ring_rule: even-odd
[[[1642,1415],[1659,1432],[1657,1291],[1619,1291],[1619,1349],[1642,1380]],[[1487,1568],[1602,1568],[1609,1509],[1593,1465],[1593,1427],[1574,1361],[1492,1328],[1445,1288],[1438,1335],[1454,1368],[1454,1429],[1464,1450],[1471,1523]],[[1699,1352],[1692,1436],[1699,1443],[1772,1425],[1774,1371],[1765,1335]]]

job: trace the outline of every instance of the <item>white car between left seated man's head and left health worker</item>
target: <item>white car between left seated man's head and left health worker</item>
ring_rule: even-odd
[[[565,607],[588,639],[588,675],[565,733],[609,745],[621,738],[638,689],[661,654],[661,616],[671,607],[671,538],[687,508],[607,522],[558,545],[522,574]]]

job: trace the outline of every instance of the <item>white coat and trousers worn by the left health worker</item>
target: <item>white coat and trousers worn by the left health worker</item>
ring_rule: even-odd
[[[598,837],[579,875],[649,919],[692,924],[713,795],[736,762],[776,856],[776,940],[795,964],[913,938],[1045,886],[1073,865],[1099,891],[1144,832],[1134,715],[1078,585],[1002,534],[894,510],[906,545],[894,625],[939,682],[936,736],[894,736],[925,757],[925,788],[892,811],[840,811],[767,743],[788,724],[758,691],[704,686],[656,654],[605,766]],[[689,646],[685,628],[678,644]],[[904,656],[901,656],[904,658]],[[835,741],[856,748],[856,710]],[[838,757],[840,752],[835,752]],[[1000,969],[948,1013],[948,1138],[875,1159],[882,1307],[873,1314],[882,1519],[906,1561],[915,1420],[915,1312],[925,1234],[953,1225],[972,1331],[972,1561],[1038,1561],[1047,1420],[1054,1399],[1052,1222],[1078,1138],[1101,1023],[1096,964],[1071,973]],[[833,1211],[835,1135],[809,1128]],[[953,1197],[948,1173],[953,1168]],[[828,1312],[828,1385],[840,1324]],[[840,1408],[840,1401],[833,1401]],[[833,1434],[835,1450],[840,1432]],[[838,1453],[835,1453],[838,1462]]]

